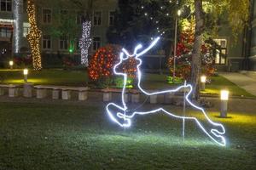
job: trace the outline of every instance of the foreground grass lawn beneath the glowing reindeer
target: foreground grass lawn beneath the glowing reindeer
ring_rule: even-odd
[[[139,116],[131,129],[100,105],[0,103],[0,169],[256,169],[256,115],[230,113],[228,146],[213,144],[194,122]]]

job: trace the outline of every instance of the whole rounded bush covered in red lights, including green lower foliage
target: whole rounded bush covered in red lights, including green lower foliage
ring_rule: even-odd
[[[88,67],[89,77],[99,88],[113,86],[120,88],[122,86],[123,77],[115,77],[113,74],[113,66],[119,62],[120,53],[121,47],[119,45],[108,44],[105,47],[99,48],[90,59]],[[122,69],[120,72],[125,72],[131,80],[135,77],[136,65],[136,59],[127,59],[119,66]]]

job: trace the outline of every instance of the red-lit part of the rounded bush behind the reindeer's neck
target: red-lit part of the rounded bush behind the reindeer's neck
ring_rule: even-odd
[[[113,65],[119,62],[119,54],[121,47],[118,45],[107,45],[99,48],[96,54],[90,59],[88,67],[89,77],[92,81],[98,81],[113,77]],[[122,65],[123,71],[127,73],[128,77],[135,77],[137,71],[136,59],[131,58]]]

